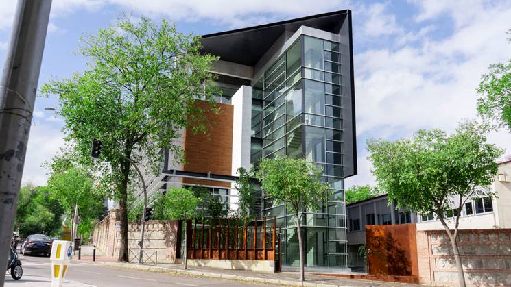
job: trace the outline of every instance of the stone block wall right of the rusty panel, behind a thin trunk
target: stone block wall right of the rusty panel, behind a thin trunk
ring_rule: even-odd
[[[511,229],[460,230],[458,238],[469,286],[511,286]],[[421,284],[457,285],[449,237],[443,230],[417,231]]]

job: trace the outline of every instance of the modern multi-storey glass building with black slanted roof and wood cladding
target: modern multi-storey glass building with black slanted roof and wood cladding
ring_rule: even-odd
[[[200,184],[222,190],[236,208],[239,167],[277,155],[305,157],[324,168],[322,180],[333,189],[320,210],[302,216],[306,266],[345,268],[344,178],[357,171],[350,10],[204,35],[202,45],[219,57],[212,72],[224,91],[213,139],[184,131],[189,164],[167,160],[151,192]],[[253,196],[255,214],[276,218],[283,229],[283,265],[298,266],[296,219],[262,190]]]

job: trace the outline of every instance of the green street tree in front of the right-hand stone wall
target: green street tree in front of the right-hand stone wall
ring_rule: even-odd
[[[465,286],[458,225],[464,203],[492,196],[502,149],[486,142],[488,127],[462,122],[447,135],[439,129],[419,130],[410,139],[369,140],[368,150],[379,186],[398,208],[436,214],[453,249],[460,286]],[[453,214],[454,219],[447,219]]]

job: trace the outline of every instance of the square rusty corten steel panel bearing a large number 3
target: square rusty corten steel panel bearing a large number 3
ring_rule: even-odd
[[[415,224],[367,225],[368,275],[418,276]]]

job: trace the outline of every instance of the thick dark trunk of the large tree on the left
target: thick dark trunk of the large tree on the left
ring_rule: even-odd
[[[129,155],[127,155],[129,156]],[[122,161],[121,184],[119,185],[119,214],[121,216],[121,243],[119,245],[119,258],[117,261],[128,262],[128,177],[130,175],[130,162]]]

